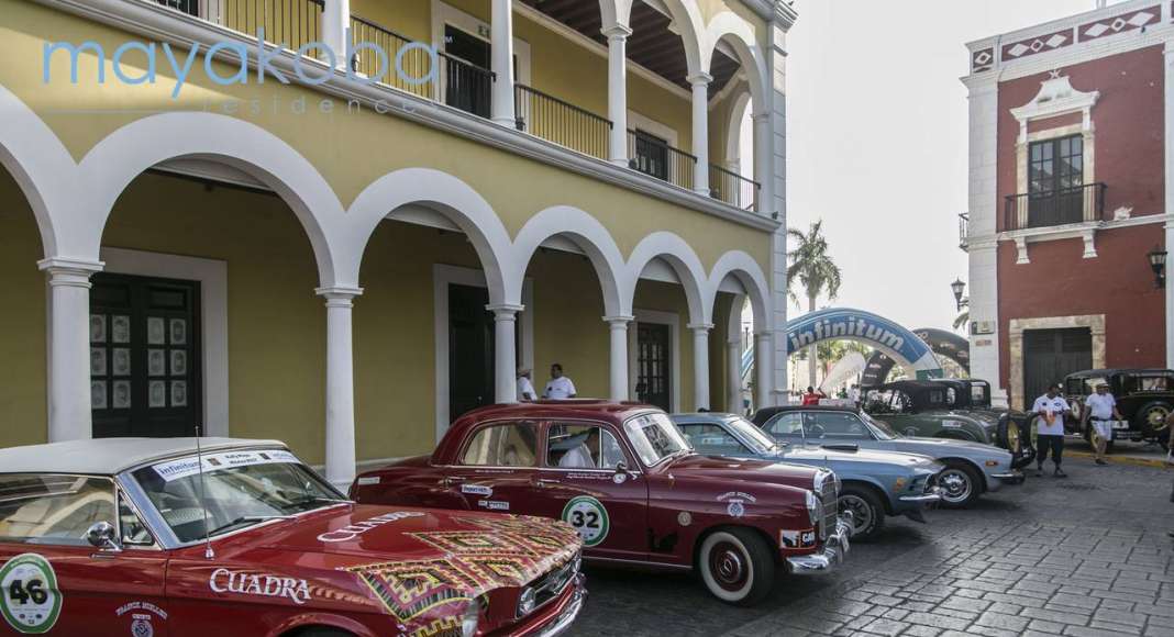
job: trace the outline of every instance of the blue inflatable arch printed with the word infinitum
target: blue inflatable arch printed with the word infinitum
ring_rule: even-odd
[[[917,334],[896,323],[862,310],[832,307],[803,314],[787,324],[787,353],[823,340],[856,340],[868,345],[918,379],[942,378],[942,365],[930,346]]]

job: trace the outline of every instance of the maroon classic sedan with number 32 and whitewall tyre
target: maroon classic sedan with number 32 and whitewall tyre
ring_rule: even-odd
[[[351,487],[363,503],[564,520],[588,560],[696,569],[734,604],[764,597],[776,568],[843,560],[850,526],[837,492],[826,469],[697,455],[663,412],[598,400],[470,412],[431,456]]]

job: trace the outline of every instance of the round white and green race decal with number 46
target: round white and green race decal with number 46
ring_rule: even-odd
[[[41,635],[53,629],[61,614],[53,564],[35,553],[26,553],[0,568],[0,611],[16,632]]]

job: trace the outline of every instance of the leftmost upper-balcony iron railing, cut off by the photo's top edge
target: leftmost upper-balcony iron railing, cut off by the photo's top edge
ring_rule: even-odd
[[[202,20],[297,50],[322,40],[323,0],[155,0]],[[203,6],[201,6],[203,5]]]

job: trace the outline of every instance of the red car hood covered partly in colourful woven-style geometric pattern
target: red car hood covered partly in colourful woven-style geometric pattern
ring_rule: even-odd
[[[252,535],[251,548],[303,560],[321,554],[323,564],[353,574],[405,633],[459,617],[470,599],[491,590],[525,585],[582,548],[573,528],[541,517],[362,504]]]

